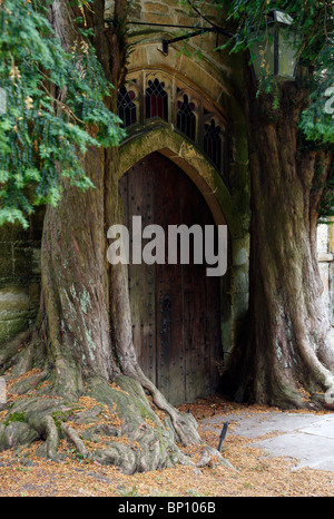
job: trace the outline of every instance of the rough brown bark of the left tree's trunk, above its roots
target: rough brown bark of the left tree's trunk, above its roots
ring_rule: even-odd
[[[95,16],[101,14],[104,2],[95,3]],[[72,22],[76,16],[68,2],[51,7],[52,26],[67,50],[79,38]],[[59,205],[47,208],[41,252],[49,353],[55,359],[57,385],[73,394],[82,391],[82,376],[97,374],[108,380],[116,369],[110,358],[105,256],[105,151],[91,148],[81,160],[95,188],[81,193],[63,182]]]

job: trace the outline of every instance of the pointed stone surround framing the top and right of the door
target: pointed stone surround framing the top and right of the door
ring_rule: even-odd
[[[165,155],[189,176],[205,198],[216,225],[228,227],[228,266],[220,283],[222,343],[224,363],[227,364],[248,310],[249,237],[243,229],[236,202],[217,169],[194,144],[167,123],[154,120],[140,131],[129,135],[120,147],[119,177],[155,151]]]

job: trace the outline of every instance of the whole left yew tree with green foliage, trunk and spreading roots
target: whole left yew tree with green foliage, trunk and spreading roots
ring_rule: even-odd
[[[122,222],[115,92],[127,8],[116,0],[106,28],[102,0],[0,2],[0,223],[27,226],[47,206],[38,317],[0,347],[10,390],[0,450],[43,439],[38,453],[59,459],[68,438],[79,456],[131,473],[191,464],[179,444],[202,439],[140,370],[126,265],[107,262],[107,231]]]

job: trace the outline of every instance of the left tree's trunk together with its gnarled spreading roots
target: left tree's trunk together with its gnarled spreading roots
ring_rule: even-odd
[[[125,6],[124,0],[116,1],[118,20]],[[67,1],[52,4],[51,20],[67,49],[78,37],[72,25],[77,14]],[[125,69],[122,36],[117,29],[105,31],[101,0],[88,9],[86,19],[95,28],[97,55],[117,91]],[[82,165],[95,189],[81,193],[65,180],[59,205],[47,208],[41,303],[30,343],[21,349],[22,339],[29,337],[19,336],[0,350],[2,372],[12,366],[11,384],[17,375],[38,369],[11,388],[12,393],[28,398],[14,401],[0,423],[0,450],[45,438],[41,453],[57,458],[65,435],[80,454],[118,464],[129,473],[191,463],[177,442],[202,443],[196,421],[173,408],[141,372],[132,344],[126,265],[111,267],[107,262],[107,231],[122,223],[118,150],[91,148]],[[85,410],[82,395],[96,405]],[[100,417],[105,407],[107,419],[100,423],[97,412]],[[68,420],[84,422],[90,440],[98,433],[115,435],[115,423],[120,423],[120,438],[89,453]],[[214,454],[223,461],[218,451]]]

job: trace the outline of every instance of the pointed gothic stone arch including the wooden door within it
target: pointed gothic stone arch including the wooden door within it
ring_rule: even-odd
[[[197,315],[199,315],[199,321],[202,321],[202,323],[207,321],[207,319],[210,319],[209,315],[212,315],[213,322],[210,326],[215,330],[214,337],[212,336],[208,339],[205,329],[198,322],[197,324],[194,324],[194,327],[191,327],[191,330],[196,330],[194,341],[197,346],[193,346],[191,344],[191,347],[189,347],[187,345],[187,340],[184,342],[177,334],[169,335],[170,330],[174,330],[174,326],[176,326],[176,330],[178,329],[183,336],[187,336],[187,327],[184,324],[184,320],[187,319],[187,316],[183,313],[181,307],[177,306],[177,315],[180,316],[179,322],[175,323],[173,321],[175,319],[175,313],[173,316],[175,305],[179,305],[180,300],[188,301],[187,304],[189,304],[187,295],[180,295],[183,293],[183,288],[179,288],[178,301],[176,301],[177,294],[175,293],[175,287],[177,287],[177,276],[174,277],[171,284],[168,285],[167,283],[166,288],[166,275],[161,272],[161,268],[159,274],[157,274],[156,271],[156,274],[153,275],[151,267],[148,267],[146,273],[139,274],[138,267],[136,267],[137,270],[131,268],[131,266],[129,267],[130,303],[134,309],[134,343],[135,349],[137,349],[136,353],[138,355],[139,364],[170,401],[174,403],[180,403],[181,400],[191,401],[194,398],[209,394],[209,389],[212,392],[217,390],[217,386],[215,386],[215,376],[217,376],[217,373],[213,374],[210,380],[206,378],[206,373],[213,373],[217,370],[216,361],[218,361],[218,364],[222,366],[225,361],[227,362],[228,360],[229,350],[233,346],[236,327],[238,326],[238,313],[233,309],[233,296],[230,296],[230,293],[233,292],[233,281],[237,275],[237,268],[235,270],[230,260],[233,256],[237,255],[239,243],[243,237],[243,228],[239,219],[239,213],[234,204],[233,197],[212,161],[196,148],[194,143],[186,139],[183,134],[173,129],[170,125],[160,120],[150,121],[145,126],[143,133],[131,135],[131,137],[120,147],[120,163],[118,170],[119,179],[121,179],[120,185],[121,189],[128,190],[127,199],[132,200],[130,202],[130,206],[135,208],[135,212],[138,209],[138,214],[141,214],[141,207],[144,209],[148,207],[154,198],[154,193],[150,193],[150,189],[155,180],[151,175],[146,176],[145,172],[147,170],[151,173],[151,169],[154,168],[154,163],[151,160],[155,160],[154,157],[157,155],[161,157],[161,160],[158,159],[158,163],[156,164],[161,163],[163,165],[161,167],[158,166],[158,170],[163,170],[164,160],[166,164],[166,159],[167,163],[174,165],[174,168],[176,167],[176,170],[179,172],[179,174],[176,173],[176,175],[179,175],[180,184],[185,186],[188,185],[186,190],[189,193],[193,192],[191,185],[194,187],[196,186],[196,190],[205,199],[213,222],[216,225],[227,225],[229,236],[229,265],[228,272],[225,276],[216,278],[216,284],[214,283],[213,286],[208,288],[207,283],[204,282],[204,273],[197,275],[195,278],[194,273],[189,274],[190,277],[193,276],[193,286],[190,286],[190,290],[195,290],[194,287],[197,287],[198,285],[199,291],[196,294],[194,293],[191,301],[200,301],[199,307],[202,307],[204,302],[204,306],[209,305],[209,302],[213,304],[206,315],[200,315],[198,307],[196,310],[191,307],[191,304],[187,310],[188,314],[191,315],[191,319],[195,319],[195,323]],[[124,176],[131,177],[130,180],[126,180],[128,184],[124,184]],[[174,207],[178,207],[179,205],[180,207],[185,207],[185,203],[181,203],[181,198],[179,198],[179,183],[176,180],[177,177],[175,177],[175,172],[173,173],[173,167],[170,169],[170,176],[174,176],[174,180],[171,180],[171,184],[167,186],[168,196],[167,194],[165,195],[163,203],[166,214],[169,210],[173,212],[173,205]],[[188,177],[188,180],[183,180],[181,176]],[[175,192],[170,188],[170,185],[175,186]],[[159,185],[159,190],[164,193],[165,186],[161,186],[163,185]],[[137,196],[139,196],[139,198],[137,198]],[[191,199],[193,198],[188,198],[188,206],[193,205]],[[198,196],[196,194],[194,194],[194,204],[198,204]],[[129,213],[129,206],[126,208],[126,212]],[[148,209],[148,214],[143,218],[143,221],[146,222],[144,225],[156,223],[151,221],[151,217],[149,216],[151,214],[150,212],[151,205]],[[202,209],[197,210],[197,214],[202,214],[202,212],[206,212],[204,205],[202,206]],[[208,215],[208,213],[206,214]],[[207,216],[206,218],[208,219],[204,222],[209,222],[209,217],[210,216]],[[156,266],[156,268],[158,266]],[[158,277],[158,275],[160,277]],[[169,274],[167,274],[167,278]],[[160,280],[159,283],[163,283],[158,288],[157,278]],[[165,281],[161,281],[161,278]],[[151,290],[153,286],[154,290]],[[202,293],[200,286],[202,291],[204,291]],[[187,294],[189,287],[186,286],[185,290]],[[154,293],[155,295],[153,296],[151,294]],[[147,296],[150,298],[147,298],[145,294],[150,294]],[[154,303],[151,297],[154,297]],[[216,303],[213,301],[216,301]],[[155,309],[154,313],[151,313],[151,309]],[[215,316],[214,309],[216,310]],[[176,320],[177,319],[178,317],[176,317]],[[183,327],[180,327],[180,322],[183,322]],[[153,337],[156,337],[156,342]],[[207,346],[207,350],[202,351],[198,346],[200,343],[212,345],[209,349]],[[178,347],[183,347],[181,345],[184,345],[183,354],[180,356],[177,355],[178,350],[173,349],[173,344],[179,344]],[[219,356],[219,351],[217,351],[217,344],[219,344],[222,356]],[[190,356],[189,350],[193,350],[193,355]],[[200,358],[205,361],[203,365],[199,361]],[[167,363],[165,363],[166,359],[168,360]],[[186,365],[193,366],[190,372],[186,370]],[[177,372],[175,373],[173,372],[174,368],[177,369]],[[204,371],[202,371],[202,369]],[[174,384],[170,383],[170,379],[173,378],[176,378],[176,389],[174,389]],[[180,400],[177,400],[179,395],[181,395]]]

